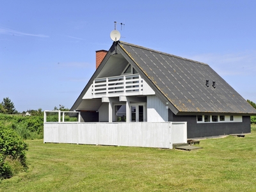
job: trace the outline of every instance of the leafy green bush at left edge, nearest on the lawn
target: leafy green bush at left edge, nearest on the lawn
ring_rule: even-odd
[[[0,179],[12,177],[17,167],[26,170],[26,150],[28,145],[15,131],[0,125]]]

